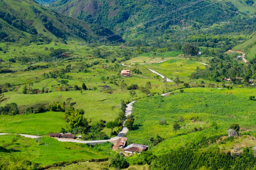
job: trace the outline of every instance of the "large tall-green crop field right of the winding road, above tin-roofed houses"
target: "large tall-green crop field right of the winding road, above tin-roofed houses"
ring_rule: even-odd
[[[256,105],[255,101],[249,100],[251,95],[256,95],[255,89],[189,88],[184,89],[184,93],[176,91],[168,97],[138,100],[133,109],[135,129],[127,133],[129,143],[147,144],[155,153],[161,154],[196,143],[202,137],[226,134],[232,123],[255,133]],[[159,124],[162,118],[166,125]],[[172,129],[174,121],[181,126],[177,135]],[[157,135],[165,140],[153,147],[150,138]]]

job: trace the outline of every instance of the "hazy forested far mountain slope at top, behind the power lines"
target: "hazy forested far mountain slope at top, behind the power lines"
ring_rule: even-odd
[[[212,2],[216,1],[207,0],[201,2],[168,17],[159,19],[160,21],[158,20],[158,22],[175,18],[181,14],[193,11]],[[211,5],[205,9],[176,20],[175,24],[184,23],[185,21],[183,20],[187,18],[189,18],[188,20],[193,20],[194,22],[206,25],[228,20],[236,16],[235,12],[238,11],[238,8],[234,6],[232,2],[226,0],[221,3]],[[244,3],[245,0],[234,0],[234,2],[240,9],[246,9],[248,11],[253,11],[255,9],[253,5],[249,6]],[[253,2],[255,2],[255,0],[253,0]],[[100,24],[104,27],[110,28],[111,30],[120,30],[121,28],[139,24],[142,21],[170,12],[189,3],[192,2],[185,0],[57,0],[52,3],[50,7],[61,14],[79,18],[88,23]],[[244,8],[245,6],[247,6],[247,8]],[[247,14],[243,12],[242,15],[246,16]]]

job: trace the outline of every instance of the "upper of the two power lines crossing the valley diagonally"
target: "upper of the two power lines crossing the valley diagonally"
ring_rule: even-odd
[[[26,69],[26,68],[32,67],[32,66],[34,66],[34,65],[36,65],[36,64],[40,64],[40,63],[42,63],[42,62],[46,62],[46,61],[49,61],[49,60],[51,60],[51,59],[53,59],[53,58],[59,57],[59,56],[61,56],[61,55],[63,55],[63,54],[70,53],[70,52],[72,52],[72,51],[76,51],[76,50],[78,50],[78,49],[80,49],[80,48],[83,48],[83,47],[86,47],[86,46],[88,46],[88,45],[94,44],[94,43],[96,43],[96,42],[102,41],[102,40],[104,40],[104,39],[113,37],[113,36],[115,36],[115,35],[117,35],[117,34],[120,34],[120,33],[126,32],[126,31],[128,31],[128,30],[131,30],[131,29],[133,29],[133,28],[135,28],[135,27],[137,27],[137,26],[141,26],[141,25],[147,24],[148,22],[152,22],[152,21],[154,21],[154,20],[157,20],[157,19],[159,19],[159,18],[162,18],[162,17],[164,17],[164,16],[167,16],[167,15],[169,15],[169,14],[172,14],[172,13],[174,13],[174,12],[180,11],[180,10],[182,10],[182,9],[185,9],[185,8],[187,8],[187,7],[190,7],[190,6],[192,6],[192,5],[195,5],[195,4],[200,3],[200,2],[203,2],[203,1],[205,1],[205,0],[199,0],[199,1],[193,2],[193,3],[189,4],[189,5],[186,5],[186,6],[184,6],[184,7],[178,8],[178,9],[176,9],[176,10],[174,10],[174,11],[167,12],[166,14],[162,14],[162,15],[160,15],[160,16],[157,16],[157,17],[155,17],[155,18],[152,18],[152,19],[150,19],[150,20],[147,20],[147,21],[145,21],[145,22],[142,22],[142,23],[140,23],[140,24],[137,24],[137,25],[135,25],[135,26],[132,26],[132,27],[130,27],[130,28],[127,28],[127,29],[125,29],[125,30],[119,31],[119,32],[117,32],[117,33],[114,33],[114,34],[109,35],[109,36],[107,36],[107,37],[104,37],[104,38],[101,38],[101,39],[99,39],[99,40],[93,41],[93,42],[91,42],[91,43],[88,43],[88,44],[83,45],[83,46],[81,46],[81,47],[78,47],[78,48],[75,48],[75,49],[73,49],[73,50],[67,51],[67,52],[65,52],[65,53],[58,54],[58,55],[56,55],[56,56],[53,56],[53,57],[48,58],[48,59],[46,59],[46,60],[43,60],[43,61],[41,61],[41,62],[37,62],[37,63],[32,64],[32,65],[30,65],[30,66],[21,68],[21,69],[19,69],[19,70],[15,70],[15,71],[13,71],[13,72],[11,72],[11,73],[8,73],[8,74],[5,74],[5,75],[1,75],[0,77],[4,77],[4,76],[6,76],[6,75],[16,73],[16,72],[21,71],[21,70],[24,70],[24,69]],[[123,39],[123,38],[121,38],[121,39]],[[121,39],[119,39],[119,40],[121,40]],[[117,40],[117,41],[119,41],[119,40]],[[116,41],[113,41],[113,42],[116,42]]]

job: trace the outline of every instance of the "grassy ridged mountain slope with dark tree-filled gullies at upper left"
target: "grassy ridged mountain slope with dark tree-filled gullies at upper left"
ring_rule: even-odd
[[[4,41],[38,42],[57,38],[91,41],[112,34],[102,26],[63,16],[32,0],[3,0],[0,9],[0,38]]]

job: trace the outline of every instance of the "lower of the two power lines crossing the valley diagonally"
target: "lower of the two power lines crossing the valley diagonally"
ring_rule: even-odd
[[[220,1],[223,1],[223,0],[220,0]],[[178,16],[178,17],[176,17],[176,18],[173,18],[173,19],[171,19],[171,20],[168,20],[168,21],[162,22],[162,23],[157,24],[157,25],[155,25],[155,26],[152,26],[152,27],[150,27],[150,28],[146,28],[146,29],[144,29],[144,30],[142,30],[142,31],[139,31],[139,32],[133,33],[133,34],[128,35],[128,36],[126,36],[126,37],[123,37],[123,38],[121,38],[121,39],[124,39],[124,38],[130,37],[130,36],[132,36],[132,35],[135,35],[135,34],[137,34],[137,33],[140,33],[140,32],[146,31],[146,30],[149,30],[149,29],[151,29],[151,28],[154,28],[154,27],[159,26],[159,25],[161,25],[161,24],[164,24],[164,23],[166,23],[166,22],[169,22],[169,21],[175,20],[175,19],[177,19],[177,18],[180,18],[180,17],[185,16],[185,15],[187,15],[187,14],[190,14],[190,13],[192,13],[192,12],[198,11],[198,10],[200,10],[200,9],[203,9],[203,8],[205,8],[205,7],[208,7],[208,6],[210,6],[210,5],[213,5],[213,4],[215,4],[215,3],[218,3],[218,2],[220,2],[220,1],[217,1],[217,2],[211,3],[211,4],[209,4],[209,5],[206,5],[206,6],[204,6],[204,7],[201,7],[201,8],[199,8],[199,9],[194,10],[194,11],[188,12],[188,13],[186,13],[186,14],[183,14],[183,15]],[[107,43],[107,44],[105,44],[105,45],[109,45],[109,44],[114,43],[114,42],[116,42],[116,41],[119,41],[119,40],[121,40],[121,39],[118,39],[118,40],[112,41],[112,42]],[[100,48],[100,47],[102,47],[102,46],[104,46],[104,45],[101,45],[101,46],[96,47],[96,48],[94,48],[94,49],[98,49],[98,48]],[[91,49],[91,50],[88,50],[88,51],[92,51],[92,50],[94,50],[94,49]],[[86,51],[86,52],[84,52],[84,53],[87,53],[88,51]],[[71,57],[65,58],[64,60],[61,60],[61,61],[58,61],[58,62],[63,62],[63,61],[65,61],[65,60],[69,59],[69,58],[73,58],[73,57],[79,56],[79,55],[84,54],[84,53],[80,53],[80,54],[77,54],[77,55],[75,55],[75,56],[71,56]],[[55,63],[53,63],[53,64],[55,64]],[[44,67],[42,67],[42,68],[45,68],[45,67],[51,66],[51,65],[53,65],[53,64],[49,64],[49,65],[44,66]],[[40,69],[42,69],[42,68],[39,68],[39,69],[36,69],[36,70],[32,70],[32,71],[30,71],[30,72],[34,72],[34,71],[40,70]],[[30,73],[30,72],[27,72],[27,73],[24,73],[24,74],[21,74],[21,75],[25,75],[25,74],[28,74],[28,73]],[[20,77],[21,75],[18,75],[18,76],[16,76],[16,77]],[[7,79],[7,80],[4,80],[4,81],[1,81],[0,83],[5,82],[5,81],[8,81],[8,80],[11,80],[11,79],[14,79],[14,78],[16,78],[16,77],[13,77],[13,78],[10,78],[10,79]]]

